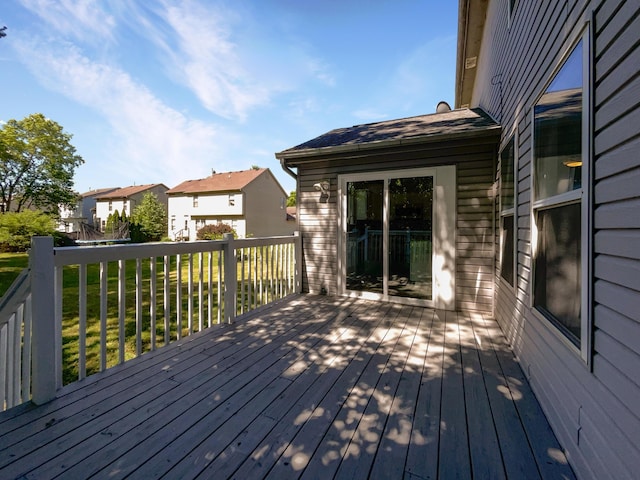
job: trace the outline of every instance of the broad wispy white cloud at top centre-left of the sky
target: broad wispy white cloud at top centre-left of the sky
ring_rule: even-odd
[[[164,53],[167,75],[225,119],[245,121],[255,109],[309,81],[334,86],[330,65],[262,25],[255,12],[219,3],[166,0],[149,11],[130,7],[138,33]],[[157,21],[160,20],[160,21]]]

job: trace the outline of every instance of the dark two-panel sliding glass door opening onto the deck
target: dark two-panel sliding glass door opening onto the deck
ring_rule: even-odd
[[[344,182],[345,288],[433,299],[434,175]]]

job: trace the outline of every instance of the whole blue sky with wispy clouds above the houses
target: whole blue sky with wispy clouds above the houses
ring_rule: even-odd
[[[73,135],[79,192],[252,165],[333,128],[453,106],[457,4],[4,0],[0,121]]]

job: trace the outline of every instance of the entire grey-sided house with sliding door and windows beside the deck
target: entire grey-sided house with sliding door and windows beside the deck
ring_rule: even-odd
[[[304,290],[492,313],[580,478],[640,471],[639,19],[462,0],[458,109],[276,154]]]

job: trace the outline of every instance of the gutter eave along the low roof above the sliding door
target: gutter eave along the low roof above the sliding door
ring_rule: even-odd
[[[330,147],[319,147],[319,148],[307,148],[304,150],[293,150],[293,151],[284,150],[282,152],[276,153],[275,156],[278,160],[280,160],[280,162],[284,162],[284,165],[287,165],[287,162],[291,160],[296,160],[296,159],[304,160],[308,157],[353,153],[353,152],[360,152],[360,151],[367,151],[367,150],[377,150],[377,149],[388,148],[388,147],[436,143],[436,142],[443,142],[448,140],[464,140],[468,138],[490,136],[492,134],[500,135],[500,129],[501,129],[500,125],[491,125],[489,127],[474,128],[472,130],[468,130],[465,132],[441,133],[437,135],[424,135],[420,137],[412,137],[412,138],[404,138],[404,139],[379,140],[379,141],[368,142],[368,143],[335,145]]]

